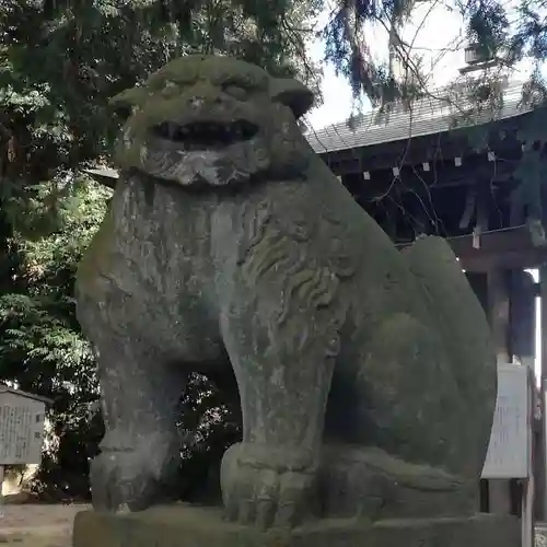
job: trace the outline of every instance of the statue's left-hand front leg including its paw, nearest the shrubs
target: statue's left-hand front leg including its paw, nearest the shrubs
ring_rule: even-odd
[[[78,309],[96,353],[105,421],[91,463],[93,505],[139,511],[161,500],[178,470],[175,410],[184,384],[162,351],[140,339],[131,302],[107,294],[107,309],[82,296]]]

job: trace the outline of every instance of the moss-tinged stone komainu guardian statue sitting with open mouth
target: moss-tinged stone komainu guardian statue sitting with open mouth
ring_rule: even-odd
[[[398,252],[298,128],[311,92],[232,58],[115,98],[121,177],[77,282],[106,435],[96,508],[144,509],[179,463],[188,372],[235,373],[231,520],[474,511],[496,363],[447,244]]]

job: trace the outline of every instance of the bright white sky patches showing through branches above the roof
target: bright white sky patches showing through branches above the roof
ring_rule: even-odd
[[[511,13],[516,5],[515,0],[504,2]],[[433,8],[432,8],[433,5]],[[327,5],[319,16],[318,26],[326,21],[330,5]],[[370,45],[374,58],[386,58],[387,35],[379,28],[365,30],[366,43]],[[465,66],[465,47],[467,42],[463,33],[461,15],[450,8],[449,2],[417,3],[412,19],[401,33],[403,39],[414,43],[414,50],[423,55],[424,67],[429,71],[431,88],[440,88],[452,83],[458,75],[458,69]],[[310,54],[316,61],[322,61],[324,44],[317,39],[310,48]],[[329,65],[324,65],[323,95],[324,104],[309,115],[315,130],[348,119],[352,112],[351,90],[344,78],[337,77]],[[529,74],[531,66],[527,62],[517,65],[511,74],[512,79],[525,80]]]

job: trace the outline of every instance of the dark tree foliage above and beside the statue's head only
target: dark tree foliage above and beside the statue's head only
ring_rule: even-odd
[[[315,4],[314,2],[317,2]],[[0,15],[1,191],[66,182],[106,160],[119,119],[108,98],[190,51],[237,55],[317,86],[305,20],[319,0],[20,1]],[[10,184],[7,184],[10,183]]]

